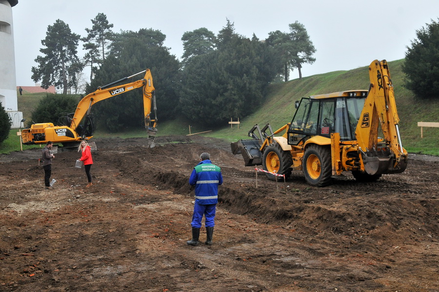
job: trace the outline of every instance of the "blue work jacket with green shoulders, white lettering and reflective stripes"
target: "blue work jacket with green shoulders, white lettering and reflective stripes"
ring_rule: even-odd
[[[222,184],[221,168],[209,159],[201,161],[189,178],[189,185],[195,185],[195,201],[200,205],[218,203],[218,186]]]

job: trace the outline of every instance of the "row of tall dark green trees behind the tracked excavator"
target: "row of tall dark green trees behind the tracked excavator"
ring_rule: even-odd
[[[288,32],[271,32],[266,40],[239,35],[229,20],[218,34],[205,27],[185,32],[181,61],[163,45],[166,36],[160,30],[115,33],[103,13],[91,21],[85,37],[61,20],[48,26],[42,55],[35,59],[38,66],[32,67],[33,81],[44,88],[55,85],[63,94],[79,93],[84,68],[89,66],[85,92],[90,93],[149,68],[161,120],[182,115],[214,126],[230,117],[243,118],[261,104],[269,83],[288,81],[293,69],[301,78],[302,64],[315,62],[316,49],[297,21]],[[78,57],[80,41],[86,52],[83,58]],[[94,112],[108,130],[117,131],[139,125],[142,107],[139,94],[128,92],[96,104]]]

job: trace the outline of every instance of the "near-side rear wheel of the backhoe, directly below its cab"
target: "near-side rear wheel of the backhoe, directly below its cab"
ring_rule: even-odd
[[[303,155],[303,174],[311,186],[324,187],[332,183],[331,150],[327,146],[308,146]]]

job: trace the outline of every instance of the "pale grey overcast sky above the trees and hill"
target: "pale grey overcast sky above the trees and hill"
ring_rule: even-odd
[[[373,60],[404,58],[416,30],[438,21],[438,0],[19,0],[12,8],[17,85],[32,86],[32,66],[40,53],[47,26],[57,19],[81,37],[98,13],[114,24],[113,31],[160,30],[164,45],[180,58],[181,36],[205,27],[215,34],[226,25],[251,38],[264,40],[272,31],[289,32],[288,24],[302,23],[317,52],[304,77],[369,65]],[[79,49],[82,48],[80,42]],[[83,51],[79,50],[79,57]],[[131,73],[131,72],[130,72]],[[132,72],[137,73],[137,72]],[[295,70],[290,78],[298,78]]]

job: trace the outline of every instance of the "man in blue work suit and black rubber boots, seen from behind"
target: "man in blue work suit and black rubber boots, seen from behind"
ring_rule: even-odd
[[[215,211],[218,203],[218,186],[222,184],[220,167],[212,164],[209,153],[201,153],[201,162],[194,167],[189,178],[189,185],[195,186],[195,204],[192,215],[192,239],[188,245],[196,246],[199,243],[201,220],[205,218],[207,239],[205,244],[212,244],[215,226]]]

